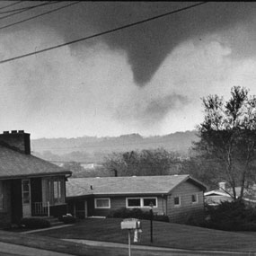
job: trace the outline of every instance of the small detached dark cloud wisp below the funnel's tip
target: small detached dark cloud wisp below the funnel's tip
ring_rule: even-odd
[[[146,119],[163,119],[170,111],[182,109],[189,103],[189,99],[180,94],[173,93],[149,102],[143,115]]]

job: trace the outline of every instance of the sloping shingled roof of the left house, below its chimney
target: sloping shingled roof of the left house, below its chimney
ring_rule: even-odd
[[[0,180],[71,173],[36,156],[0,144]]]

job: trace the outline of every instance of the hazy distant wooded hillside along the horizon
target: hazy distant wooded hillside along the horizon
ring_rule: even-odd
[[[120,137],[40,138],[31,140],[32,153],[51,161],[100,163],[107,154],[163,147],[186,156],[196,131],[176,132],[165,136],[141,137],[139,134]]]

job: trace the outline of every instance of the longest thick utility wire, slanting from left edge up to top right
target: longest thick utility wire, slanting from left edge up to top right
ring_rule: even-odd
[[[77,43],[77,42],[80,42],[80,41],[84,41],[84,40],[90,40],[90,39],[93,39],[93,38],[96,38],[96,37],[100,37],[102,35],[106,35],[106,34],[110,34],[112,32],[115,32],[115,31],[120,31],[120,30],[123,30],[123,29],[127,29],[127,28],[130,28],[130,27],[134,27],[138,24],[142,24],[142,23],[145,23],[145,22],[151,22],[151,21],[154,21],[156,19],[159,19],[159,18],[163,18],[164,16],[167,16],[167,15],[171,15],[173,13],[180,13],[182,11],[185,11],[185,10],[188,10],[188,9],[191,9],[191,8],[194,8],[196,6],[199,6],[199,5],[202,5],[202,4],[207,4],[207,2],[201,2],[199,4],[192,4],[190,6],[187,6],[187,7],[183,7],[181,9],[177,9],[175,11],[172,11],[172,12],[168,12],[168,13],[163,13],[163,14],[160,14],[160,15],[157,15],[157,16],[154,16],[154,17],[151,17],[151,18],[148,18],[146,20],[142,20],[142,21],[139,21],[139,22],[132,22],[132,23],[129,23],[128,25],[124,25],[124,26],[121,26],[121,27],[118,27],[118,28],[115,28],[115,29],[111,29],[109,31],[103,31],[103,32],[100,32],[100,33],[96,33],[96,34],[93,34],[91,36],[88,36],[88,37],[84,37],[82,39],[79,39],[79,40],[72,40],[72,41],[69,41],[69,42],[66,42],[66,43],[63,43],[63,44],[59,44],[59,45],[56,45],[56,46],[53,46],[53,47],[49,47],[47,49],[40,49],[40,50],[37,50],[37,51],[33,51],[31,53],[27,53],[27,54],[23,54],[23,55],[20,55],[20,56],[17,56],[17,57],[10,57],[10,58],[6,58],[2,61],[0,61],[0,64],[3,64],[3,63],[6,63],[6,62],[10,62],[10,61],[13,61],[15,59],[19,59],[19,58],[22,58],[22,57],[29,57],[31,55],[36,55],[38,53],[42,53],[42,52],[45,52],[45,51],[49,51],[49,50],[52,50],[52,49],[57,49],[57,48],[61,48],[61,47],[64,47],[64,46],[67,46],[67,45],[70,45],[70,44],[74,44],[74,43]]]

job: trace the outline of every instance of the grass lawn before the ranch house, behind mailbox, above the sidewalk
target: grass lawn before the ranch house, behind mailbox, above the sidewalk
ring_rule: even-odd
[[[36,233],[41,236],[128,243],[128,231],[120,229],[122,219],[85,219],[73,226]],[[150,243],[150,222],[142,220],[141,242],[137,244],[188,250],[256,252],[255,235],[225,232],[190,225],[154,222],[154,243]]]

